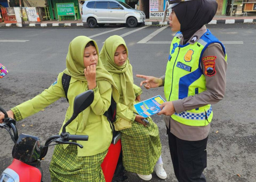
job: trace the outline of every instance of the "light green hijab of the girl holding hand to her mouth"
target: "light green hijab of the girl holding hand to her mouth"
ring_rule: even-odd
[[[97,54],[99,55],[99,49],[97,43],[94,40],[86,36],[75,37],[75,39],[73,39],[69,44],[68,54],[66,57],[67,68],[63,71],[65,74],[71,76],[72,78],[75,78],[76,80],[80,80],[83,82],[87,82],[87,79],[84,76],[84,49],[90,41],[93,41],[95,48],[97,50]],[[112,76],[109,74],[108,71],[105,70],[100,59],[98,59],[98,64],[96,67],[96,81],[99,80],[106,80],[110,84],[112,84],[112,97],[118,103],[118,88],[114,83]]]

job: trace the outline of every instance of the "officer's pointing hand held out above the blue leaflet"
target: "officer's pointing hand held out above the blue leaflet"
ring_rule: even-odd
[[[142,82],[140,82],[140,86],[144,84],[146,89],[156,88],[162,85],[163,80],[161,78],[156,78],[154,76],[145,76],[145,75],[136,75],[139,78],[144,78]]]

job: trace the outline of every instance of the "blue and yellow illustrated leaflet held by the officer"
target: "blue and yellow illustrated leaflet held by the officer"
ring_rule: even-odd
[[[148,116],[151,116],[161,111],[161,108],[159,106],[164,102],[165,100],[163,100],[160,95],[157,95],[150,99],[134,104],[134,107],[139,115],[147,118]]]

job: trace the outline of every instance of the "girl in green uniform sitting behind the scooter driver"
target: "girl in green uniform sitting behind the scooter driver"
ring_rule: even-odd
[[[142,90],[133,84],[132,66],[124,39],[117,35],[106,39],[99,58],[113,76],[120,94],[114,126],[122,133],[125,170],[137,173],[144,180],[150,180],[155,167],[157,176],[166,179],[157,124],[148,117],[146,119],[150,126],[146,127],[142,121],[143,117],[138,115],[133,107],[135,99],[140,100]]]

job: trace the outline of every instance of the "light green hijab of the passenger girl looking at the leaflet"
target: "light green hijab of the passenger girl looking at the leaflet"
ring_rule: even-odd
[[[122,44],[127,51],[127,60],[123,66],[117,66],[114,62],[114,54],[117,47]],[[106,70],[112,73],[114,82],[117,83],[117,86],[121,85],[121,88],[118,88],[120,92],[119,102],[128,107],[132,106],[132,103],[135,100],[135,93],[133,91],[132,66],[129,63],[128,49],[124,39],[118,35],[113,35],[106,39],[99,54],[99,59],[101,59]]]

